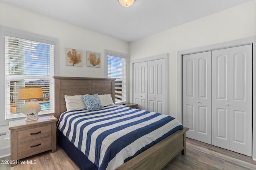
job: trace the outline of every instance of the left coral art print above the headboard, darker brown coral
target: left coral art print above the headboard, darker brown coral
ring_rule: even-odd
[[[77,49],[65,48],[66,65],[68,66],[83,66],[82,56],[83,51]]]

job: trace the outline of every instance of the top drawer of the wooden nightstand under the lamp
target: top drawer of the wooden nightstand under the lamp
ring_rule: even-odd
[[[40,126],[40,127],[32,127],[31,129],[26,129],[17,132],[17,143],[22,143],[25,141],[31,141],[34,139],[38,139],[40,137],[45,137],[52,135],[52,124]]]

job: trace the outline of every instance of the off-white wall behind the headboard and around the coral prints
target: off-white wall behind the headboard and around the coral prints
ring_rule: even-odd
[[[129,44],[94,31],[76,27],[62,21],[54,20],[46,16],[35,14],[21,8],[10,6],[0,2],[0,25],[19,29],[22,31],[36,33],[47,37],[58,39],[58,74],[55,76],[76,76],[76,77],[104,77],[105,76],[105,49],[128,54]],[[102,28],[103,29],[103,28]],[[2,38],[1,38],[2,41]],[[74,48],[83,51],[83,66],[66,66],[65,48]],[[101,54],[101,68],[87,67],[86,51],[92,51]],[[0,52],[2,61],[4,51]],[[4,88],[4,62],[0,62],[0,87]],[[4,89],[2,89],[4,90]],[[4,92],[2,93],[4,94]],[[4,96],[0,96],[0,126],[8,125],[5,121]],[[7,131],[8,126],[2,126],[1,131]],[[0,138],[0,143],[2,143]],[[5,141],[6,143],[7,141]],[[10,140],[8,141],[10,143]],[[0,149],[10,147],[10,144],[0,145]]]

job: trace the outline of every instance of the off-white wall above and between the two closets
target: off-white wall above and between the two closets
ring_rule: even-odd
[[[255,35],[256,2],[251,1],[134,41],[130,61],[169,53],[168,114],[177,117],[177,52]]]

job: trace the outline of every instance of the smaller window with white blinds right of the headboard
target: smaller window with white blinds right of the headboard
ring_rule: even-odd
[[[107,77],[115,80],[115,103],[126,102],[127,56],[113,51],[106,51]]]

